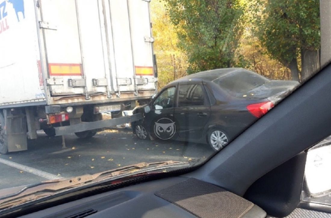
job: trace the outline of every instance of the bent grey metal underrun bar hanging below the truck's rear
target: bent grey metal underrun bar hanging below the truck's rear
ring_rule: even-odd
[[[74,124],[70,126],[64,126],[64,127],[55,127],[55,133],[56,135],[67,135],[70,133],[75,132],[82,132],[86,130],[92,130],[92,129],[100,129],[104,127],[112,127],[120,124],[125,123],[131,123],[134,121],[138,121],[143,118],[143,115],[141,113],[134,114],[132,116],[125,116],[125,117],[119,117],[114,118],[110,120],[100,120],[100,121],[94,121],[94,122],[86,122],[86,123],[80,123],[80,124]]]

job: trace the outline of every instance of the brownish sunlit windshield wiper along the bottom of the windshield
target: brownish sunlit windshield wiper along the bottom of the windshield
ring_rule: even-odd
[[[85,184],[91,184],[93,182],[108,181],[109,179],[115,180],[130,175],[137,175],[145,172],[183,166],[189,166],[189,163],[179,161],[164,161],[154,163],[143,162],[116,168],[113,170],[103,171],[100,173],[76,176],[69,179],[44,181],[34,185],[25,186],[23,189],[16,193],[0,197],[0,210],[12,206],[17,206],[28,201],[47,197],[71,188]]]

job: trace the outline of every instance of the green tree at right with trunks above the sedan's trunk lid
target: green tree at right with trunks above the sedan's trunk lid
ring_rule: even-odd
[[[290,68],[292,79],[306,79],[319,68],[319,0],[258,0],[258,3],[259,7],[265,6],[257,19],[263,45],[273,58]]]

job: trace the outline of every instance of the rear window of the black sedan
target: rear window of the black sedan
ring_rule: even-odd
[[[267,78],[248,70],[234,71],[213,80],[222,89],[236,96],[244,95],[269,81]]]

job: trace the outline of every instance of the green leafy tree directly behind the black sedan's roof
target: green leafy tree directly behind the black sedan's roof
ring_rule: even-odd
[[[242,34],[242,0],[167,0],[188,73],[232,67]]]

